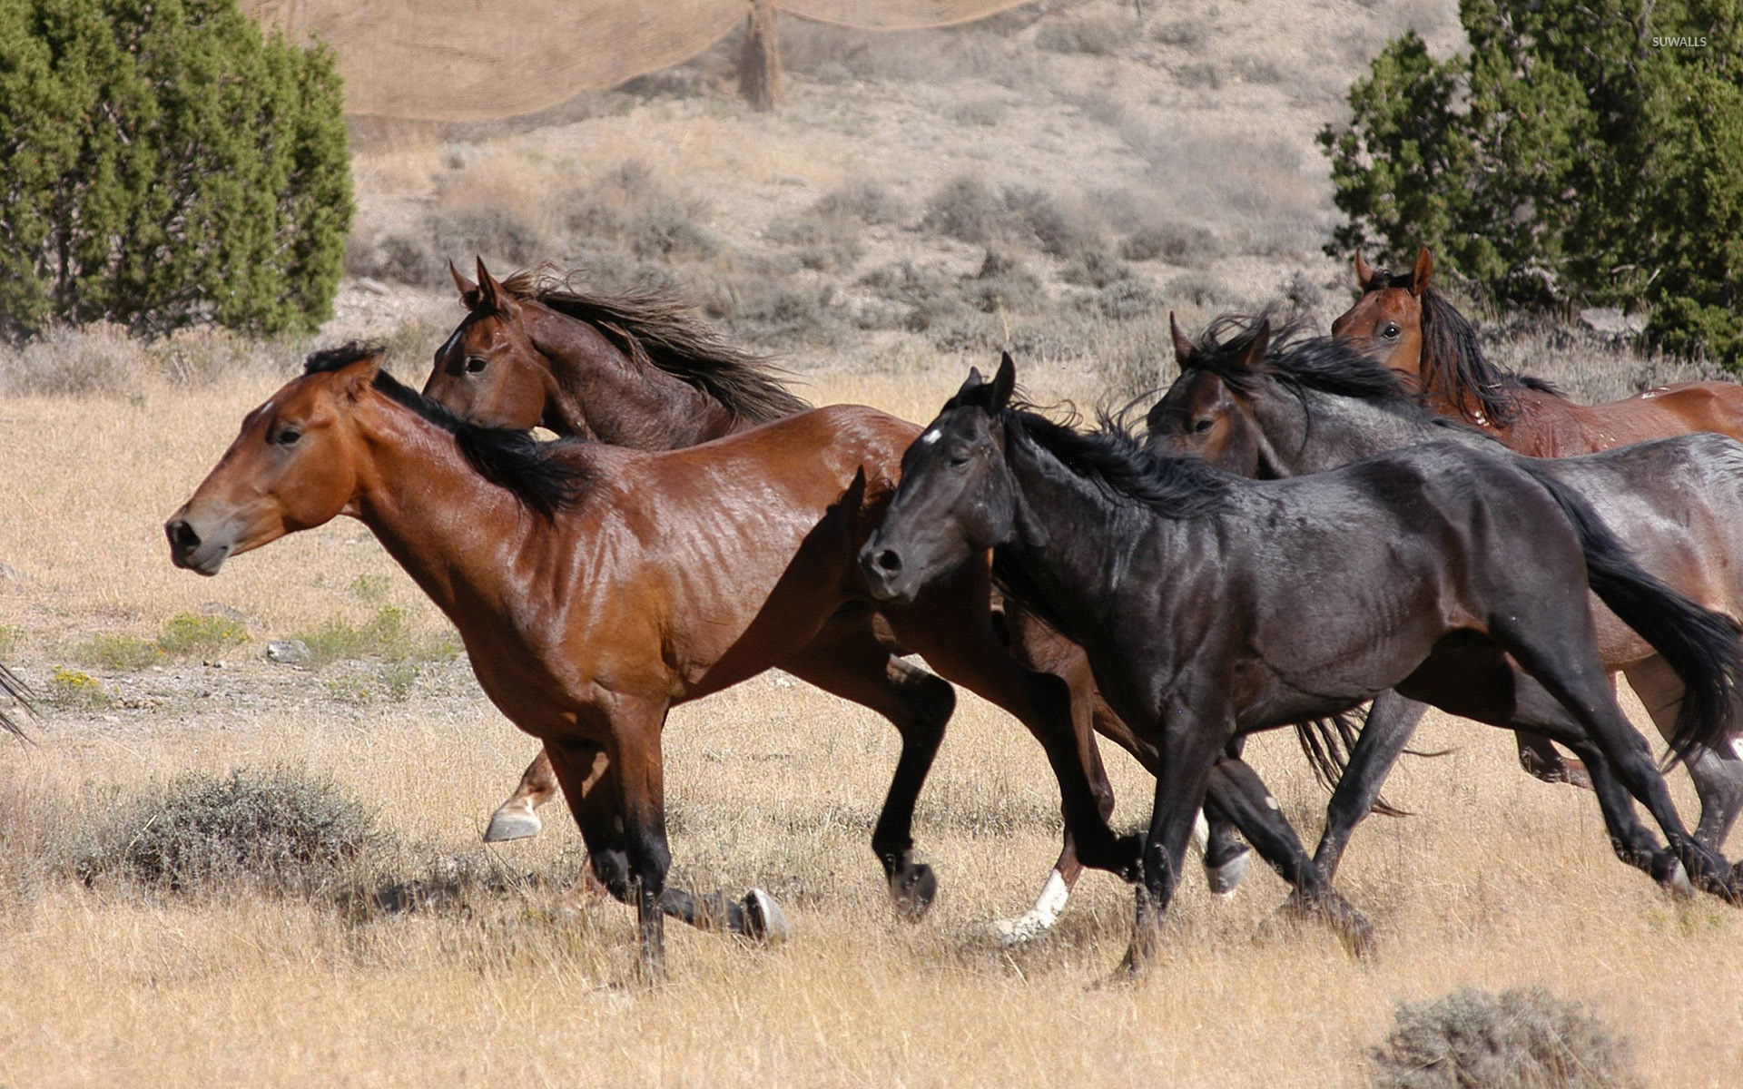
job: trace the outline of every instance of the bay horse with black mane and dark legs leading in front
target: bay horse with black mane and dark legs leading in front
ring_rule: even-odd
[[[666,887],[666,713],[769,667],[901,732],[873,849],[910,911],[936,892],[910,829],[953,693],[878,643],[856,563],[894,490],[880,467],[917,432],[837,406],[668,453],[544,446],[465,423],[347,345],[244,418],[166,533],[178,566],[214,575],[338,514],[363,521],[453,620],[490,700],[546,742],[594,876],[636,904],[638,964],[657,976],[668,913],[753,937],[784,927],[760,890],[729,903]],[[988,578],[966,565],[884,615],[938,673],[1030,725],[1084,861],[1131,873],[1135,842],[1107,828],[1084,770],[1095,746],[1079,751],[1065,685],[1004,652]]]

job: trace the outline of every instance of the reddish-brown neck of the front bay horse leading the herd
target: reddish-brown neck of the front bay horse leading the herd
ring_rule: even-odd
[[[478,476],[453,436],[413,411],[373,396],[359,401],[356,418],[366,444],[357,521],[462,634],[481,606],[519,601],[511,561],[546,523]]]

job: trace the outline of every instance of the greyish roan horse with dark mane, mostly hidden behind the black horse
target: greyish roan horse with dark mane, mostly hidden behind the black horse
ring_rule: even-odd
[[[1255,479],[1325,472],[1419,443],[1504,451],[1490,436],[1417,404],[1396,373],[1349,342],[1299,331],[1285,326],[1267,343],[1264,322],[1224,317],[1192,343],[1175,328],[1180,378],[1145,416],[1152,448],[1196,453]],[[1734,514],[1743,511],[1743,446],[1736,441],[1677,436],[1539,469],[1584,497],[1642,568],[1706,608],[1743,617],[1743,521]],[[1677,486],[1663,488],[1663,481]],[[1602,603],[1593,603],[1593,619],[1605,669],[1624,671],[1659,732],[1675,735],[1682,681]],[[1532,681],[1520,676],[1516,683]],[[1422,711],[1393,692],[1375,699],[1314,854],[1328,880]],[[1719,850],[1743,808],[1743,760],[1733,742],[1696,749],[1687,767],[1701,795],[1694,838]]]

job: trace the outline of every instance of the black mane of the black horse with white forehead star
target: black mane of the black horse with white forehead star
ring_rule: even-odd
[[[1006,436],[1025,437],[1041,446],[1065,469],[1093,481],[1109,498],[1182,519],[1227,505],[1227,474],[1201,458],[1150,451],[1109,413],[1098,413],[1098,427],[1086,432],[1055,423],[1027,404],[1013,404],[1000,418]]]

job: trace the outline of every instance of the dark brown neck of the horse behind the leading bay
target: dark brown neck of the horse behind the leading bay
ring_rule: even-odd
[[[528,310],[539,315],[533,343],[556,376],[544,420],[551,430],[634,450],[678,450],[741,430],[725,404],[621,352],[594,326],[542,305]]]

